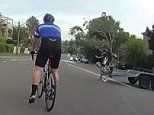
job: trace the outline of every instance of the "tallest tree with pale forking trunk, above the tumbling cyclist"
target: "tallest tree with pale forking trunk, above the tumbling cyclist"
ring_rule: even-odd
[[[105,40],[111,53],[113,44],[118,39],[118,33],[123,31],[120,28],[120,22],[115,21],[112,16],[107,16],[104,12],[101,17],[89,21],[86,28],[90,36],[97,36],[98,39]]]

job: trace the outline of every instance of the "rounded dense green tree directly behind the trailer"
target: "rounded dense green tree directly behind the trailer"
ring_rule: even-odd
[[[129,68],[145,67],[148,46],[141,39],[131,38],[121,46],[120,54]]]

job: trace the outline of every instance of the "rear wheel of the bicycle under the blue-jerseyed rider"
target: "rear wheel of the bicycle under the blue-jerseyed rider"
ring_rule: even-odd
[[[56,87],[53,85],[52,75],[49,75],[46,81],[45,104],[47,111],[51,111],[55,104]]]

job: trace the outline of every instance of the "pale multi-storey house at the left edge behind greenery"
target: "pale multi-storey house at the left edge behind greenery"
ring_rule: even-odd
[[[0,36],[6,39],[12,39],[13,35],[13,19],[3,16],[0,13]]]

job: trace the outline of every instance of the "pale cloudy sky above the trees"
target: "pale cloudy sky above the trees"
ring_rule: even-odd
[[[0,0],[0,12],[14,20],[25,23],[35,16],[42,23],[45,13],[55,17],[55,24],[62,30],[62,39],[73,26],[82,26],[85,20],[101,16],[102,12],[120,21],[126,32],[142,37],[146,27],[154,24],[154,0]]]

